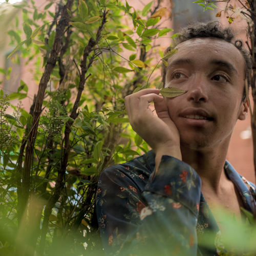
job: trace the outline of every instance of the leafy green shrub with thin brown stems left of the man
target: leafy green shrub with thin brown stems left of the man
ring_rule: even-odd
[[[161,28],[160,2],[142,11],[117,0],[56,0],[43,10],[33,0],[15,5],[22,18],[8,31],[8,58],[33,63],[38,92],[29,112],[18,104],[8,114],[10,100],[27,99],[30,81],[8,96],[0,91],[1,255],[102,252],[98,176],[148,150],[129,126],[123,98],[159,86],[160,78],[148,83],[147,74],[162,54],[155,39],[170,31]]]

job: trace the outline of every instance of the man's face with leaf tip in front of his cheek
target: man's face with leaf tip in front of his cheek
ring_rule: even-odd
[[[245,61],[239,50],[217,38],[182,42],[168,60],[165,87],[187,92],[166,98],[181,146],[228,146],[237,119],[245,119],[242,102]]]

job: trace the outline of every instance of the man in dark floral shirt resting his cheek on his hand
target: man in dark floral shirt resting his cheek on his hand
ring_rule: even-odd
[[[153,151],[99,179],[97,215],[107,253],[225,253],[217,208],[238,221],[244,221],[241,207],[255,214],[254,187],[226,161],[234,125],[248,113],[250,61],[233,37],[216,22],[188,27],[163,72],[165,87],[186,93],[164,98],[146,89],[126,96],[130,123]]]

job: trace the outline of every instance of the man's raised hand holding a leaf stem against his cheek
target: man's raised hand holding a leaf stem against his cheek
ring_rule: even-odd
[[[156,161],[160,162],[162,155],[181,160],[179,131],[170,119],[166,102],[159,92],[158,89],[145,89],[126,96],[126,111],[133,130],[155,151]],[[149,108],[153,101],[157,115]]]

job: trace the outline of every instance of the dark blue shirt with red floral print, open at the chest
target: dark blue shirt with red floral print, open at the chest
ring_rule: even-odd
[[[254,186],[226,161],[225,173],[243,206],[255,212]],[[201,179],[185,162],[162,156],[155,174],[153,151],[104,170],[96,211],[107,255],[218,255],[200,245],[207,232],[220,232],[201,193]],[[220,246],[221,247],[221,246]]]

